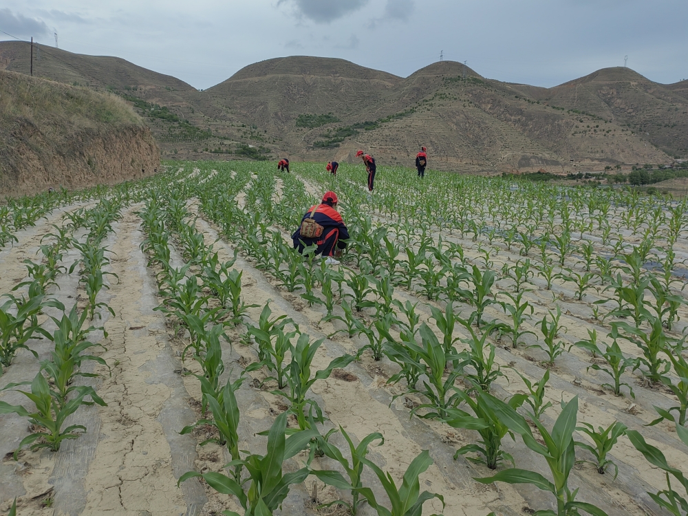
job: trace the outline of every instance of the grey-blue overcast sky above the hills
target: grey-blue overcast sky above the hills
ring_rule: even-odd
[[[628,67],[688,78],[688,0],[2,0],[0,31],[118,56],[199,89],[264,59],[338,57],[406,77],[444,59],[551,87]],[[0,32],[0,39],[12,39]]]

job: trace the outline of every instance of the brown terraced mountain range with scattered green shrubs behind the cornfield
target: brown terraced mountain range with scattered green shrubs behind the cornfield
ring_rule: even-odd
[[[0,43],[0,66],[28,72],[27,47]],[[361,148],[378,163],[409,165],[424,145],[438,169],[565,172],[688,157],[688,81],[660,85],[627,68],[542,88],[484,78],[453,61],[402,78],[290,56],[198,92],[119,58],[48,48],[36,73],[121,94],[165,158],[353,161]]]

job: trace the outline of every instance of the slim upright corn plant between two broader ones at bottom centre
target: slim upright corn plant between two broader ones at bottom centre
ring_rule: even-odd
[[[341,427],[341,425],[339,427],[339,431],[346,439],[347,444],[349,444],[351,463],[344,457],[344,455],[342,455],[341,451],[339,451],[337,447],[332,446],[332,444],[327,442],[327,440],[325,440],[322,436],[318,437],[318,444],[320,449],[327,457],[331,458],[332,460],[336,460],[339,464],[341,464],[348,477],[348,480],[345,479],[345,477],[338,471],[321,471],[313,469],[311,470],[311,474],[315,475],[325,484],[332,485],[332,482],[336,482],[340,486],[344,486],[344,490],[352,491],[351,502],[338,499],[334,500],[334,502],[330,502],[329,504],[323,504],[319,508],[327,508],[333,505],[343,505],[349,509],[349,512],[352,514],[352,516],[356,516],[358,514],[359,507],[363,504],[363,502],[365,502],[365,498],[361,498],[361,489],[363,488],[361,475],[363,474],[364,466],[362,459],[365,459],[366,455],[368,454],[368,448],[371,446],[371,444],[373,444],[373,442],[380,441],[377,446],[382,446],[385,444],[385,438],[379,432],[370,433],[369,435],[365,436],[360,443],[358,443],[358,446],[354,446],[354,442],[349,437],[349,434],[346,433],[345,429]]]

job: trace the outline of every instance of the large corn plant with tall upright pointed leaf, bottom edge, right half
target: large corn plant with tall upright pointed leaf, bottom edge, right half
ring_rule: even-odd
[[[488,399],[487,402],[490,403],[491,400]],[[576,500],[578,489],[571,491],[568,486],[568,477],[576,458],[573,432],[576,429],[578,413],[577,396],[563,407],[561,413],[559,413],[559,417],[555,421],[554,427],[552,427],[552,431],[548,431],[548,429],[544,427],[544,424],[537,419],[532,420],[544,444],[540,444],[540,442],[535,440],[533,431],[530,430],[530,426],[528,422],[526,422],[526,419],[512,407],[509,407],[506,403],[492,403],[492,405],[493,410],[499,415],[499,420],[506,424],[506,427],[514,433],[519,433],[529,449],[544,457],[550,468],[552,480],[554,480],[554,482],[550,482],[540,473],[519,468],[505,469],[491,477],[476,478],[475,480],[482,484],[491,484],[492,482],[533,484],[533,486],[542,491],[552,493],[555,497],[557,509],[553,511],[541,510],[539,511],[541,515],[570,516],[583,511],[593,516],[607,516],[607,513],[597,506],[585,502],[578,502]]]

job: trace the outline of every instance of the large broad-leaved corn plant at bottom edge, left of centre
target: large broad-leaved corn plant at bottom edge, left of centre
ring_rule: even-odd
[[[268,433],[268,448],[265,455],[252,453],[243,459],[232,460],[225,464],[226,468],[233,468],[233,477],[222,473],[197,473],[189,471],[184,473],[178,481],[180,485],[185,480],[194,477],[202,477],[211,488],[224,495],[233,495],[244,508],[244,516],[271,516],[289,494],[289,488],[293,484],[300,484],[310,474],[310,469],[305,466],[291,473],[283,472],[283,464],[286,460],[297,455],[308,447],[310,441],[316,436],[316,430],[297,431],[286,438],[287,413],[283,412]],[[239,474],[246,469],[248,477],[243,482],[237,481],[237,469]],[[244,486],[248,482],[248,488]],[[240,516],[232,510],[225,510],[226,516]]]

